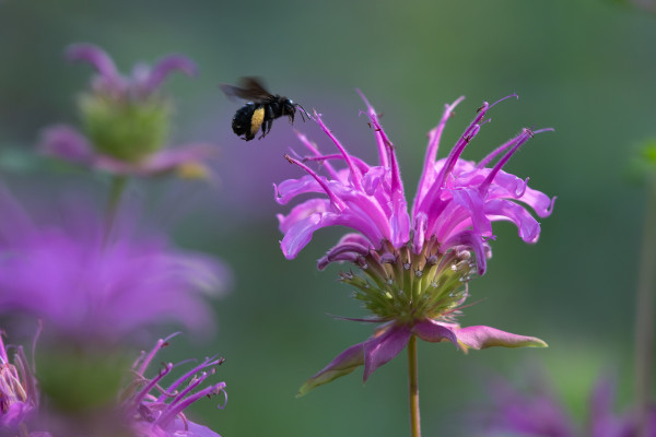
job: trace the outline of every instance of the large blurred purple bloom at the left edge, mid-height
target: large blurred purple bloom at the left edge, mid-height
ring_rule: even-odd
[[[112,343],[169,321],[212,327],[206,297],[229,280],[216,259],[137,232],[134,214],[120,214],[109,233],[101,214],[79,205],[59,212],[62,223],[37,223],[7,190],[0,210],[0,312],[38,317],[81,342]]]

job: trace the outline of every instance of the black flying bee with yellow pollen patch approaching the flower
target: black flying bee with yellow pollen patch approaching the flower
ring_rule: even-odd
[[[288,116],[290,123],[293,123],[296,108],[300,108],[301,117],[305,121],[303,117],[305,109],[301,105],[291,98],[269,93],[256,78],[242,78],[239,86],[221,84],[221,90],[229,97],[248,101],[237,109],[232,122],[233,132],[237,137],[244,135],[243,139],[246,141],[253,140],[260,128],[262,134],[259,139],[265,138],[271,131],[273,120],[282,116]]]

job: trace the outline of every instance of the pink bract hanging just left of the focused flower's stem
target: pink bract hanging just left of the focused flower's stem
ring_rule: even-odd
[[[368,377],[380,366],[397,356],[410,340],[410,327],[394,324],[364,343],[364,377]]]

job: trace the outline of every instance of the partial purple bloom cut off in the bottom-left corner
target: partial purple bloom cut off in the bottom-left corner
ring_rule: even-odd
[[[23,436],[28,429],[27,421],[38,412],[39,392],[32,366],[33,364],[27,362],[23,346],[15,347],[13,361],[10,361],[0,334],[0,435],[2,436],[8,433]],[[45,432],[32,432],[28,435],[50,436]]]

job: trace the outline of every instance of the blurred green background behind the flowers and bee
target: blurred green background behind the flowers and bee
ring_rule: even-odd
[[[420,343],[424,435],[467,436],[464,413],[485,398],[485,375],[513,378],[542,366],[578,418],[598,370],[621,375],[631,395],[634,288],[644,192],[628,177],[635,145],[656,134],[654,16],[610,0],[359,2],[5,0],[0,2],[0,146],[2,179],[37,196],[44,186],[106,191],[106,179],[27,160],[42,128],[77,122],[73,97],[91,69],[63,60],[89,42],[121,71],[181,52],[196,80],[166,84],[176,101],[172,143],[209,140],[221,157],[221,184],[141,181],[132,196],[175,216],[181,246],[215,253],[235,272],[235,288],[215,303],[219,331],[176,339],[181,357],[219,352],[227,383],[224,411],[200,401],[192,416],[224,437],[407,435],[406,362],[396,359],[362,386],[362,371],[295,399],[296,389],[371,327],[327,314],[365,314],[337,283],[338,268],[315,262],[340,236],[319,233],[286,261],[274,214],[286,212],[271,182],[298,176],[282,157],[301,150],[284,119],[269,137],[245,143],[231,131],[238,105],[218,88],[260,75],[270,90],[316,108],[359,156],[375,143],[359,110],[361,88],[395,142],[407,196],[419,178],[425,134],[443,105],[467,99],[447,126],[442,155],[481,102],[517,93],[466,151],[480,158],[523,127],[553,127],[531,140],[506,169],[557,194],[541,240],[523,244],[496,227],[488,273],[471,282],[462,324],[489,324],[544,339],[548,350],[472,351]],[[312,122],[294,125],[329,150]],[[91,187],[91,188],[90,188]],[[50,190],[51,191],[51,190]],[[50,192],[49,191],[49,192]],[[176,200],[190,199],[184,203]],[[154,200],[153,200],[154,199]],[[181,206],[180,206],[181,204]],[[172,328],[173,329],[173,328]],[[167,332],[162,331],[162,334]]]

